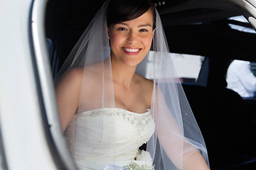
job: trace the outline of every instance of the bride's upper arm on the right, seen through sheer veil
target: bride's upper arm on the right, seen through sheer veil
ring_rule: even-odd
[[[172,98],[165,98],[158,85],[156,85],[154,93],[154,102],[156,106],[159,106],[159,108],[155,108],[153,115],[156,123],[156,135],[169,159],[176,167],[181,167],[191,153],[196,151],[196,148],[188,142],[183,134],[181,111],[175,110],[172,106],[167,106],[166,100],[169,101],[170,105],[174,105],[174,103],[171,103]],[[181,155],[183,159],[181,159]]]

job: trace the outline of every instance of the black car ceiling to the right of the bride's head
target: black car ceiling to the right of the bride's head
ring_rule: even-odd
[[[199,23],[238,16],[235,5],[226,0],[175,0],[156,6],[164,26]],[[159,2],[155,2],[158,4]]]

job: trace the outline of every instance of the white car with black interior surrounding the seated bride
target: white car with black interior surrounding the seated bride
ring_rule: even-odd
[[[103,2],[1,1],[1,169],[76,169],[61,132],[53,79]],[[170,52],[203,59],[193,81],[181,80],[210,168],[256,169],[256,98],[240,96],[226,81],[233,60],[256,62],[256,2],[153,3]]]

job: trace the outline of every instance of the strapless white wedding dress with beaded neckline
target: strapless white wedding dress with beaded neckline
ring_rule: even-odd
[[[154,130],[149,109],[146,113],[133,113],[120,108],[99,108],[75,114],[65,136],[78,169],[102,170],[110,164],[123,167],[131,162],[152,166],[149,152],[139,147]]]

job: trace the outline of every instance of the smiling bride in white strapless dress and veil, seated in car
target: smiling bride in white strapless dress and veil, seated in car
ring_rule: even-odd
[[[60,120],[79,169],[209,169],[169,58],[149,0],[103,4],[57,77]]]

